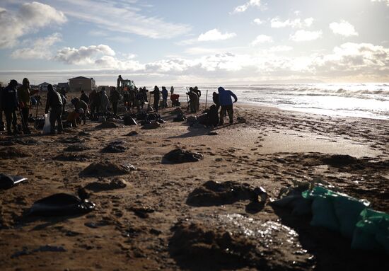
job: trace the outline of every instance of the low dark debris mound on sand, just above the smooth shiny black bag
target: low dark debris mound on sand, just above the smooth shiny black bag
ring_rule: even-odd
[[[128,174],[136,170],[132,165],[120,165],[110,161],[91,163],[79,173],[80,176],[109,177]]]

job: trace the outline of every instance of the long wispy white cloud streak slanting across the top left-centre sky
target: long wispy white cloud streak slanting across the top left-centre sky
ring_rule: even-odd
[[[169,23],[165,19],[141,14],[137,1],[62,0],[57,1],[66,15],[92,23],[103,30],[131,33],[154,39],[169,39],[190,31],[190,26]]]

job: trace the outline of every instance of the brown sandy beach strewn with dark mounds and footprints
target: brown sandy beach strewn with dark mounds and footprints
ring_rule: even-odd
[[[319,178],[389,212],[387,120],[238,104],[234,117],[246,123],[209,129],[173,122],[172,110],[160,111],[166,123],[158,129],[122,123],[98,129],[100,123],[88,121],[55,136],[1,134],[1,173],[28,178],[0,194],[1,270],[389,270],[388,255],[351,250],[339,233],[269,204],[294,181]],[[137,134],[129,136],[132,131]],[[124,152],[103,153],[113,141],[121,141]],[[74,144],[84,149],[64,151]],[[204,158],[163,163],[175,148]],[[339,163],[339,154],[352,156],[352,162]],[[136,170],[83,174],[102,162]],[[190,201],[207,182],[228,181],[238,185],[231,189],[264,188],[268,203]],[[28,215],[36,200],[79,188],[90,193],[93,212]],[[201,242],[204,236],[211,241]],[[196,246],[189,244],[197,239]],[[233,251],[219,249],[221,243],[250,257],[235,259]]]

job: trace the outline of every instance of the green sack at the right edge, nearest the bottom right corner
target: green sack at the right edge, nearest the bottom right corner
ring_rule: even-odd
[[[360,219],[355,226],[352,248],[383,248],[389,254],[389,214],[366,208]]]

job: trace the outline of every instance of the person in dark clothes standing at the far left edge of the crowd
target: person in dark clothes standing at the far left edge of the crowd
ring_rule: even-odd
[[[11,80],[8,83],[8,86],[3,89],[1,92],[1,109],[4,110],[6,115],[7,122],[7,133],[11,135],[11,125],[13,127],[13,133],[18,133],[18,129],[16,129],[16,110],[18,110],[18,93],[16,91],[16,87],[18,86],[18,82],[16,80]]]

